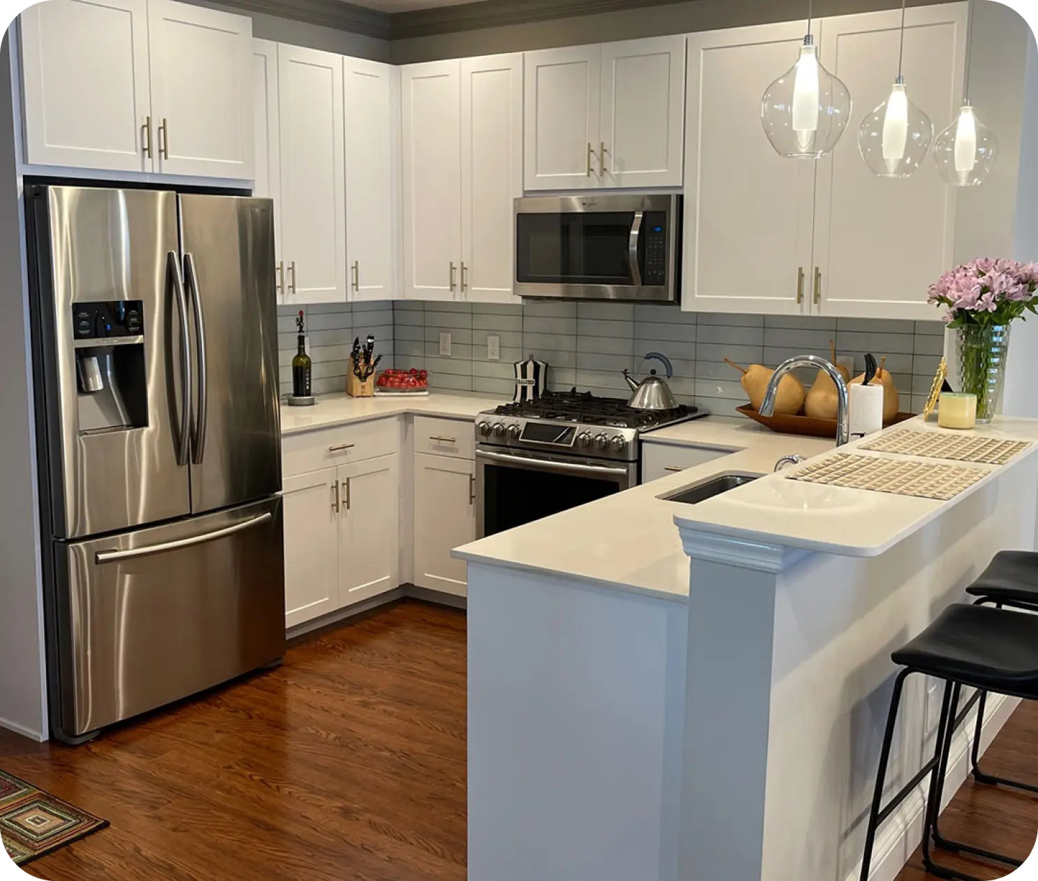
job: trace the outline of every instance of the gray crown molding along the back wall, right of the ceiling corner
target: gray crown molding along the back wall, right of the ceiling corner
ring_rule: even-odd
[[[390,39],[525,25],[682,2],[686,0],[482,0],[459,6],[398,12],[390,17]]]

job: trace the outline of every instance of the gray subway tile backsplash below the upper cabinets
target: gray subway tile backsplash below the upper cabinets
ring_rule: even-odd
[[[291,390],[289,365],[296,351],[295,307],[278,309],[278,362],[281,390]],[[346,383],[354,336],[376,336],[383,367],[424,367],[430,387],[509,398],[512,363],[534,355],[549,364],[553,389],[576,386],[597,394],[624,396],[622,371],[636,375],[656,362],[647,352],[671,359],[673,390],[679,401],[698,403],[731,415],[746,397],[738,373],[726,357],[748,366],[774,366],[804,352],[828,355],[829,339],[839,355],[886,356],[902,392],[902,409],[919,412],[944,352],[940,322],[876,321],[683,312],[673,306],[609,302],[531,300],[523,304],[455,302],[373,302],[303,307],[313,359],[317,393],[340,391]],[[439,355],[441,333],[450,334],[450,356]],[[487,357],[487,338],[499,337],[500,358]],[[811,381],[810,374],[804,376]]]

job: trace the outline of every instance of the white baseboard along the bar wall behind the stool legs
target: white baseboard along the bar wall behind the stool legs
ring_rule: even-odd
[[[1019,706],[1018,697],[1004,695],[988,695],[984,727],[981,733],[981,753],[987,750],[994,736],[1009,721],[1013,710]],[[945,778],[945,793],[940,809],[944,810],[965,782],[969,773],[969,749],[976,714],[968,716],[956,732],[952,740],[952,751],[948,763],[948,774]],[[923,808],[926,803],[926,791],[929,786],[926,777],[887,819],[876,835],[876,845],[872,853],[872,869],[869,881],[894,881],[898,873],[911,858],[923,841]],[[858,881],[862,874],[861,860],[855,864],[854,872],[846,881]]]

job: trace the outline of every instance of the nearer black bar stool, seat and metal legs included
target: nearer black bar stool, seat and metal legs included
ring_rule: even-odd
[[[1019,614],[981,605],[952,605],[919,636],[893,653],[891,658],[903,669],[894,681],[883,745],[879,752],[876,788],[869,810],[865,853],[862,857],[862,881],[868,881],[869,878],[872,849],[879,824],[890,817],[927,774],[930,774],[930,787],[923,823],[923,864],[926,871],[938,878],[978,881],[972,875],[935,863],[930,855],[931,841],[941,850],[968,853],[1008,866],[1019,866],[1021,863],[1018,859],[946,838],[937,828],[937,819],[952,735],[969,709],[968,705],[961,711],[958,709],[962,686],[1038,700],[1038,615]],[[905,679],[911,673],[925,673],[945,680],[933,758],[883,806],[883,783],[901,691]]]

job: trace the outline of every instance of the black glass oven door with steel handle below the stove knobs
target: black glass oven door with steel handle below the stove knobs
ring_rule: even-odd
[[[637,463],[475,450],[475,525],[493,535],[637,484]]]

